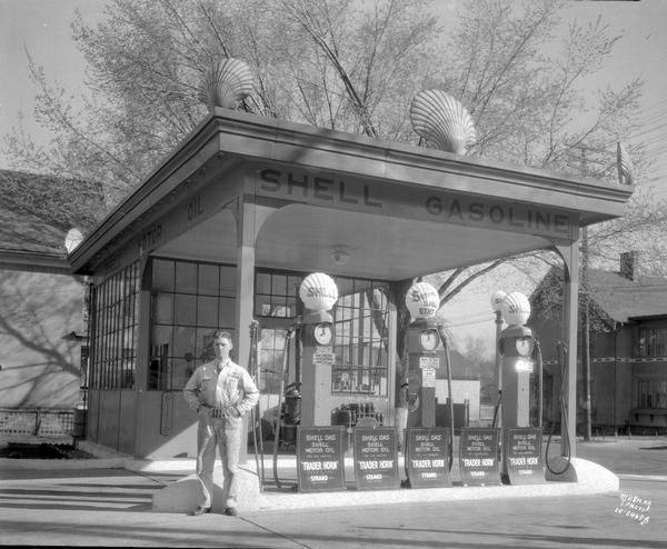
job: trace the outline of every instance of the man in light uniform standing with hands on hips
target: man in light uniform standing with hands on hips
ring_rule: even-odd
[[[255,408],[259,390],[245,368],[232,362],[233,342],[229,332],[213,332],[216,359],[195,370],[183,397],[199,417],[197,430],[197,478],[200,501],[193,516],[211,510],[216,447],[222,461],[225,515],[237,515],[237,472],[241,450],[242,416]]]

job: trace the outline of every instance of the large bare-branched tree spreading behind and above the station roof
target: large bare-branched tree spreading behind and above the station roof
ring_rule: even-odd
[[[238,57],[257,74],[243,103],[252,112],[416,141],[409,102],[437,87],[459,98],[476,121],[470,154],[580,174],[573,158],[585,146],[597,167],[588,174],[615,179],[616,141],[631,129],[641,83],[618,82],[593,103],[583,83],[619,37],[601,20],[571,23],[558,48],[563,3],[552,0],[460,6],[458,26],[445,37],[428,0],[112,0],[97,27],[81,18],[73,23],[88,63],[83,108],[77,111],[29,57],[36,116],[56,137],[43,150],[18,129],[6,147],[22,168],[100,182],[112,204],[202,120],[203,71]],[[616,246],[629,233],[623,223],[638,236],[660,216],[640,202],[633,211],[591,234],[601,257],[604,243]],[[441,276],[441,305],[502,261]],[[410,282],[395,285],[395,293]],[[394,299],[405,320],[402,357],[409,317],[402,295]]]

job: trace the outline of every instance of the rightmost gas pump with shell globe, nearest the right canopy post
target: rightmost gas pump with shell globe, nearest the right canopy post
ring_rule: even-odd
[[[500,305],[508,327],[498,341],[501,357],[502,427],[529,427],[529,383],[534,369],[535,338],[525,326],[530,317],[530,302],[522,293],[509,293]]]

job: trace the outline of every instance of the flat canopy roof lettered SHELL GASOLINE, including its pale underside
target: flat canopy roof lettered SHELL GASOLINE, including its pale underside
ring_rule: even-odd
[[[233,263],[245,223],[257,267],[402,280],[570,244],[631,191],[217,108],[70,261],[90,273],[136,240]]]

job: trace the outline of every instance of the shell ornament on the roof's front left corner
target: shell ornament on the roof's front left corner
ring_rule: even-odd
[[[252,71],[239,59],[222,59],[209,68],[201,82],[201,98],[212,110],[233,109],[252,92]]]

